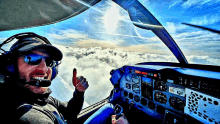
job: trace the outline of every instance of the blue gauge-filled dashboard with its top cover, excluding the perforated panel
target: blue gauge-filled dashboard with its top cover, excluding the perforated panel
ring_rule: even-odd
[[[124,73],[119,87],[124,102],[132,102],[137,109],[158,119],[164,119],[167,111],[190,115],[185,109],[190,104],[187,89],[220,98],[219,72],[159,65],[124,66],[121,69]]]

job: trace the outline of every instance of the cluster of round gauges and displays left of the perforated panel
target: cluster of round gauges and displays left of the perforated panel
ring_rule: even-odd
[[[141,74],[140,74],[141,73]],[[161,73],[143,72],[132,70],[122,77],[120,87],[123,89],[123,97],[127,101],[134,101],[140,106],[149,106],[150,109],[156,110],[160,106],[160,113],[165,112],[165,108],[176,110],[183,113],[185,106],[184,87],[175,85],[171,79],[169,82],[162,79]]]

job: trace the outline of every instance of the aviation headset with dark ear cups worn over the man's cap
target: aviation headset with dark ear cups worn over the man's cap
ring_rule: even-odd
[[[4,49],[2,49],[2,46],[9,43],[9,42],[11,42],[14,39],[18,39],[18,40],[22,41],[23,39],[26,39],[26,38],[37,38],[37,39],[39,38],[44,43],[52,46],[52,44],[48,41],[47,38],[42,37],[42,36],[37,35],[37,34],[32,33],[32,32],[19,33],[19,34],[16,34],[16,35],[13,35],[13,36],[9,37],[2,44],[0,44],[0,50],[3,51],[3,53],[1,53],[1,55],[0,55],[0,61],[3,64],[3,67],[1,67],[1,70],[3,70],[3,72],[0,71],[0,73],[4,73],[5,77],[13,78],[12,76],[15,76],[16,73],[18,73],[18,69],[16,68],[17,60],[13,59],[13,58],[16,58],[15,56],[18,56],[18,53],[17,53],[17,51],[13,51],[13,50],[5,51]],[[13,45],[12,45],[12,47],[13,47]],[[11,49],[12,49],[12,47],[11,47]],[[58,65],[59,64],[60,64],[60,61],[55,61],[55,64],[52,66],[51,80],[53,80],[57,76],[57,74],[58,74]]]

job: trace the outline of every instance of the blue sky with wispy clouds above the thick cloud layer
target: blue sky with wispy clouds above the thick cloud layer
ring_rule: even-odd
[[[218,41],[220,36],[218,34],[181,24],[185,22],[219,29],[219,0],[139,1],[171,34],[187,59],[190,59],[192,55],[219,58]],[[43,35],[53,43],[68,46],[82,46],[81,44],[83,44],[85,47],[85,44],[91,42],[89,45],[99,46],[99,43],[104,43],[114,48],[123,47],[129,51],[172,54],[151,31],[135,27],[130,21],[127,11],[111,0],[103,0],[84,13],[63,22],[43,27],[1,32],[0,38],[27,31]],[[137,48],[137,46],[139,47]]]

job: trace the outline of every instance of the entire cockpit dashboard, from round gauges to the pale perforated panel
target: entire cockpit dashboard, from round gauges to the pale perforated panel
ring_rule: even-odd
[[[118,85],[124,102],[165,120],[164,123],[166,116],[190,116],[202,123],[220,123],[220,72],[132,65],[112,73],[111,81]]]

